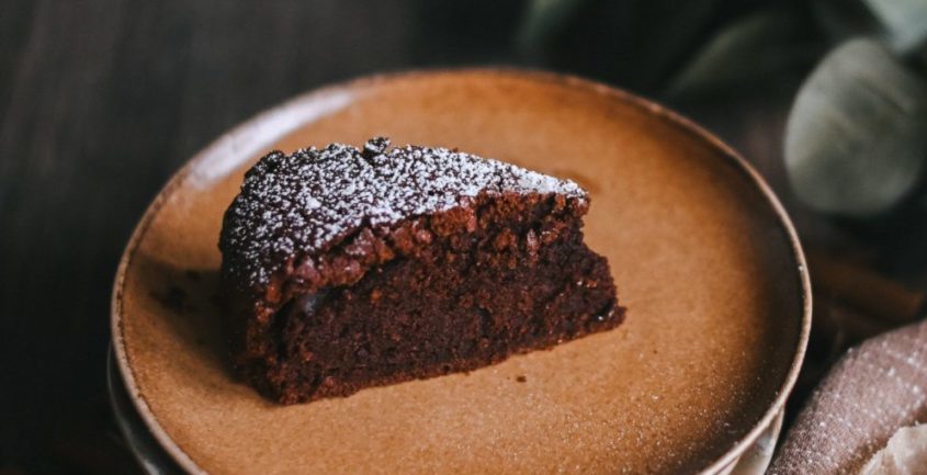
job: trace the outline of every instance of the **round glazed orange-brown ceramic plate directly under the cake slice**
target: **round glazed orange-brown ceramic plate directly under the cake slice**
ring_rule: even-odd
[[[373,135],[584,185],[586,239],[608,257],[628,320],[342,399],[280,407],[237,382],[217,328],[216,240],[244,171],[273,148]],[[219,138],[142,218],[112,323],[136,408],[191,473],[715,473],[781,411],[810,299],[788,217],[719,140],[603,86],[468,70],[326,88]]]

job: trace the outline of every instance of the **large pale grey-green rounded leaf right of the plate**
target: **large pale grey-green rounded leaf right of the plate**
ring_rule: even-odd
[[[855,217],[883,213],[924,173],[927,86],[878,42],[848,41],[799,91],[784,151],[807,205]]]

